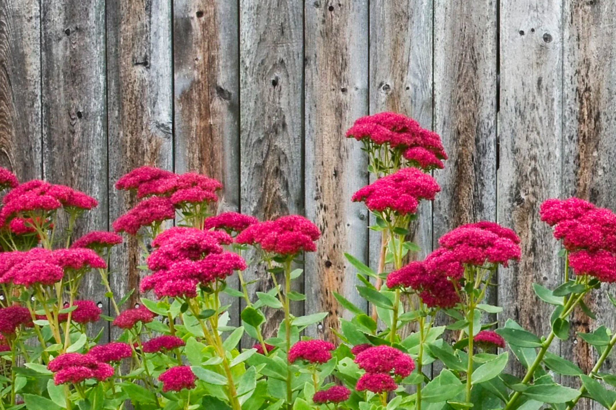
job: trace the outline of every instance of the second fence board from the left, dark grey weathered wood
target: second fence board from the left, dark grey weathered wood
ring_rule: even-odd
[[[41,6],[43,175],[99,200],[77,221],[73,235],[79,237],[108,225],[105,2],[45,1]],[[99,283],[98,275],[87,275],[80,298],[103,303]]]

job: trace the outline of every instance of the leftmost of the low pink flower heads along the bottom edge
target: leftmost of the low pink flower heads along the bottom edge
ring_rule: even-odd
[[[56,385],[78,384],[86,379],[107,380],[115,371],[107,363],[98,361],[91,355],[81,353],[62,353],[49,361],[47,369],[54,373]]]

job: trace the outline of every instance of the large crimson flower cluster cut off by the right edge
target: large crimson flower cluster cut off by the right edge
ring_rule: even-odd
[[[577,275],[616,282],[616,215],[578,198],[548,199],[541,220],[554,226],[554,237],[569,251],[569,266]]]

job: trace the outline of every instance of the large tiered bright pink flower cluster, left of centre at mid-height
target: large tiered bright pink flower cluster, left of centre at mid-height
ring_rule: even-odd
[[[158,298],[195,298],[198,285],[224,280],[234,270],[246,269],[244,259],[222,248],[231,241],[221,231],[187,227],[164,231],[152,242],[156,249],[147,258],[152,274],[141,280],[141,291],[154,290]]]

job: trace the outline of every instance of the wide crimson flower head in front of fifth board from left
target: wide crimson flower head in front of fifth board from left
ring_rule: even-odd
[[[253,224],[235,237],[237,243],[258,244],[266,252],[294,255],[317,250],[318,227],[299,215],[282,216],[274,221]]]

